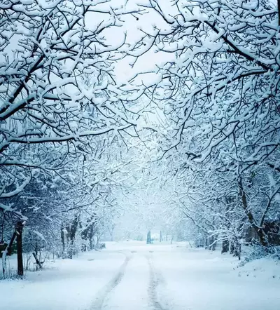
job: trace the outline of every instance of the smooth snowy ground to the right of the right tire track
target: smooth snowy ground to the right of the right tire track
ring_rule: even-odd
[[[154,255],[163,309],[279,310],[280,262],[269,258],[244,267],[231,255],[204,249]]]

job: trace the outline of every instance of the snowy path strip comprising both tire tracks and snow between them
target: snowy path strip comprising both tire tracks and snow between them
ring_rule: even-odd
[[[119,273],[97,293],[90,310],[165,310],[157,294],[164,280],[155,269],[153,251],[141,250],[123,250],[126,259]]]

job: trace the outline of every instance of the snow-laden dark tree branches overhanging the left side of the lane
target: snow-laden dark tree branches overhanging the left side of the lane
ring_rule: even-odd
[[[69,147],[83,151],[86,137],[137,125],[117,97],[112,72],[125,34],[110,41],[106,33],[122,25],[120,15],[141,9],[110,1],[6,0],[0,14],[0,197],[8,198],[25,188],[32,168],[63,161]],[[46,156],[53,145],[57,156]]]

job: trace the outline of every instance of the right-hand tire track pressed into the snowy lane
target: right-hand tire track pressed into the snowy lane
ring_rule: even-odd
[[[160,272],[155,271],[151,256],[147,256],[147,260],[150,267],[150,285],[148,287],[148,296],[151,305],[153,306],[153,310],[167,310],[167,308],[160,304],[157,296],[158,285],[165,283],[165,279],[163,278],[162,274],[160,274]]]

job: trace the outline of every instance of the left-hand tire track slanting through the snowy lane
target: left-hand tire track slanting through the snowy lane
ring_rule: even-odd
[[[122,254],[125,255],[125,253],[121,252]],[[114,276],[109,283],[105,285],[105,287],[99,291],[97,294],[97,298],[93,302],[92,306],[90,307],[90,310],[102,310],[104,301],[106,297],[110,294],[110,292],[116,288],[118,284],[120,284],[120,281],[123,280],[123,276],[125,274],[125,269],[127,267],[128,262],[130,262],[132,255],[128,256],[125,255],[125,262],[120,266],[120,269],[118,271],[118,274]]]

